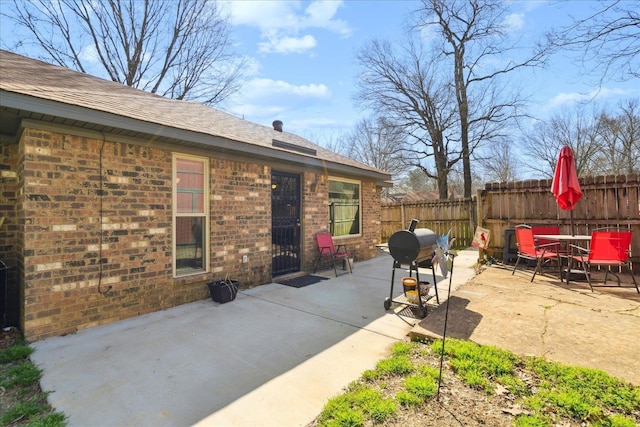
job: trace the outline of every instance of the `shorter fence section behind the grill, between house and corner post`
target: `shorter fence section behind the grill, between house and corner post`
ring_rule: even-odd
[[[455,246],[469,246],[475,230],[476,202],[472,199],[395,202],[382,205],[382,242],[393,233],[409,228],[417,219],[418,228],[429,228],[436,234],[451,230]]]

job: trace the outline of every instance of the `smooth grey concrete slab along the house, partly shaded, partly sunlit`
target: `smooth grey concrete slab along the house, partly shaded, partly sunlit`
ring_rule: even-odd
[[[476,260],[461,253],[453,286]],[[269,284],[39,341],[32,357],[70,426],[303,426],[417,324],[383,307],[392,265],[381,253],[304,288]]]

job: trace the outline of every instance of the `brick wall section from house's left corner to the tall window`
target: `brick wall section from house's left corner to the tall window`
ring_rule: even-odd
[[[31,129],[21,148],[25,336],[174,305],[170,153]]]

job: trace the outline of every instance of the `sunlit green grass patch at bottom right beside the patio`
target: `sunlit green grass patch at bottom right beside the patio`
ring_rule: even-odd
[[[374,370],[366,371],[344,394],[329,400],[315,425],[381,425],[400,411],[432,404],[439,370],[425,360],[439,359],[441,354],[439,340],[397,343]],[[488,396],[498,387],[508,390],[510,399],[528,412],[513,417],[516,427],[551,427],[562,420],[593,427],[640,425],[640,387],[600,370],[520,357],[455,339],[446,341],[444,360],[468,387]],[[528,378],[527,383],[521,378]],[[395,392],[390,386],[394,379],[401,380]]]

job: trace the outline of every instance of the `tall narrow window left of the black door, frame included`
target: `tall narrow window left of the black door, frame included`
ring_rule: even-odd
[[[173,157],[173,270],[202,273],[209,265],[209,162]]]

